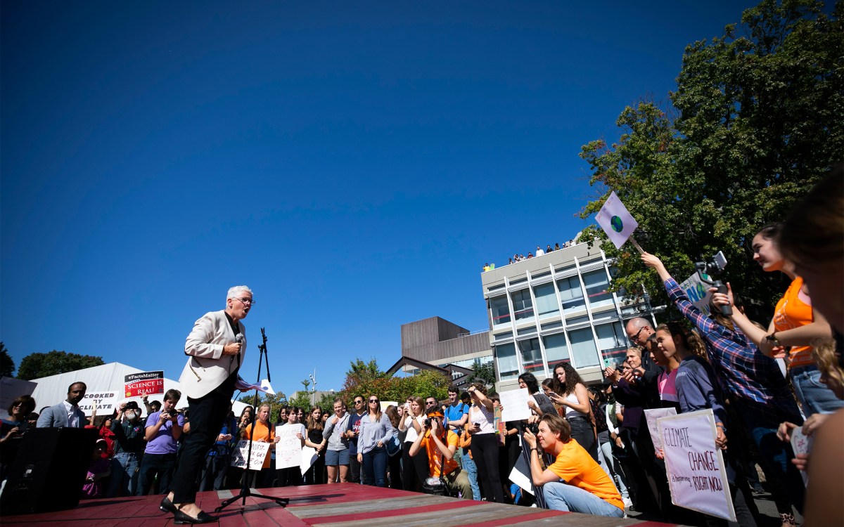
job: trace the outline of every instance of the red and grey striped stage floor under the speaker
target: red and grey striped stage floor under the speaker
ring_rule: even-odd
[[[454,497],[429,496],[353,483],[259,489],[273,497],[288,497],[287,508],[263,499],[246,498],[219,514],[216,525],[231,527],[502,527],[504,525],[665,525],[635,519],[612,519],[587,514],[560,513],[541,508],[474,502]],[[230,491],[200,492],[197,503],[213,514]],[[170,527],[171,514],[162,513],[160,496],[115,497],[88,500],[77,508],[57,513],[5,516],[3,525],[56,527]],[[214,526],[215,524],[208,524]]]

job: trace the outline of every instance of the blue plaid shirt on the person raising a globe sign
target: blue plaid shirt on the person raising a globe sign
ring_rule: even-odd
[[[802,422],[797,403],[774,359],[760,352],[738,327],[730,330],[704,315],[673,278],[664,285],[677,309],[704,337],[706,355],[722,390],[744,403],[758,405],[772,420],[779,422],[790,417]]]

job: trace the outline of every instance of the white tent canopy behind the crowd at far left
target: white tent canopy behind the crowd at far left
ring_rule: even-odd
[[[116,391],[118,393],[125,389],[124,381],[128,374],[142,373],[142,369],[133,368],[122,363],[108,363],[93,368],[78,369],[66,374],[51,375],[49,377],[42,377],[41,379],[33,379],[32,382],[38,383],[35,386],[35,391],[32,397],[35,399],[35,411],[40,411],[44,406],[53,406],[68,398],[68,386],[76,382],[84,382],[88,386],[88,391]],[[173,379],[164,379],[164,390],[179,390],[179,382]],[[149,395],[149,401],[162,401],[163,395]],[[120,399],[123,401],[138,401],[138,406],[146,415],[143,407],[143,401],[140,397],[130,397],[128,399]],[[246,403],[235,401],[233,409],[235,416],[240,416],[243,408],[247,406]],[[187,408],[187,397],[182,396],[177,408]]]

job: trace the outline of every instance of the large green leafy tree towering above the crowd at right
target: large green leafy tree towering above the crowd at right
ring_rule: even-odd
[[[826,16],[814,0],[766,0],[744,12],[740,27],[687,46],[672,106],[625,108],[618,143],[582,148],[598,192],[581,217],[615,191],[640,223],[636,239],[674,277],[722,250],[738,293],[771,306],[787,282],[760,272],[749,241],[841,163],[842,5]],[[655,302],[667,301],[630,245],[615,250],[600,229],[584,230],[582,239],[594,238],[618,258],[615,289],[638,294],[644,285]]]

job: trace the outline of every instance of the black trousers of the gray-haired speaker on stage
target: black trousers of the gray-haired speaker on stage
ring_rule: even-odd
[[[217,390],[199,399],[187,398],[190,407],[191,432],[181,450],[179,466],[173,475],[173,503],[193,503],[197,499],[197,475],[205,466],[205,454],[217,440],[229,415],[231,394]]]

